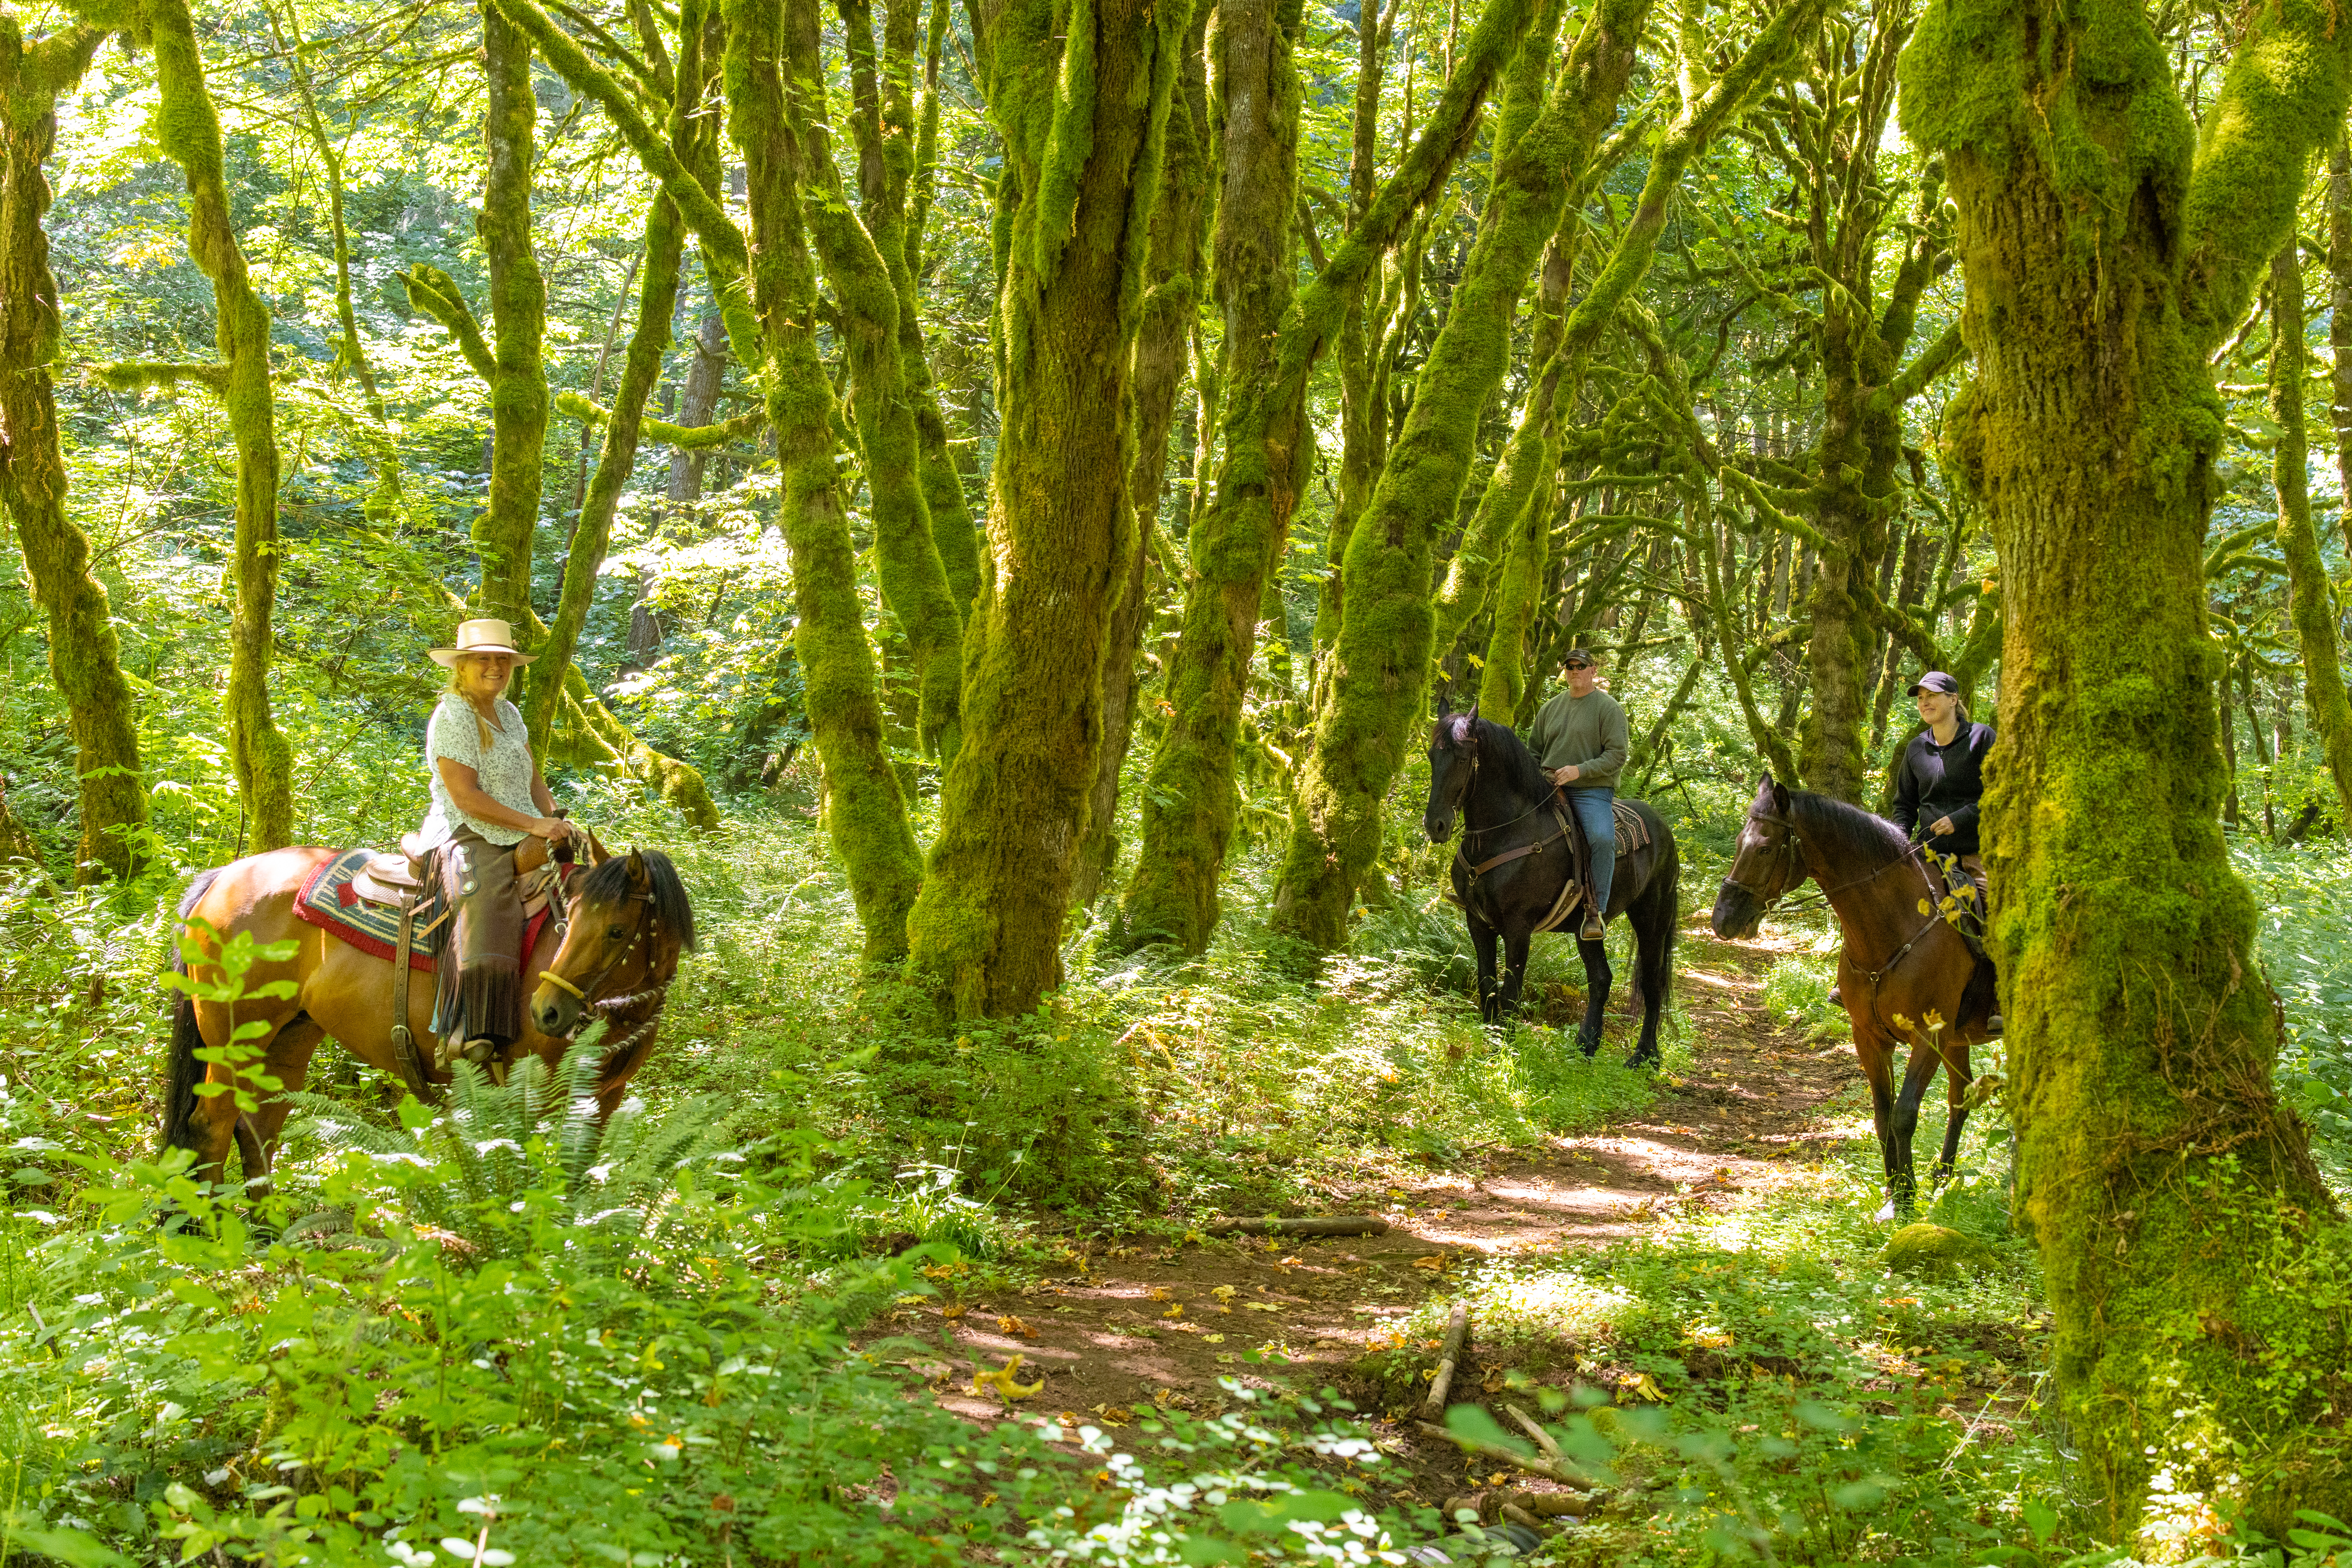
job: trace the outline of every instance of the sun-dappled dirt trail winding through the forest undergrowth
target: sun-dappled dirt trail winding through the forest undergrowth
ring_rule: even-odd
[[[1849,1135],[1832,1133],[1825,1112],[1860,1074],[1842,1039],[1809,1044],[1764,1013],[1757,992],[1773,957],[1762,940],[1717,940],[1696,917],[1677,954],[1698,1034],[1689,1077],[1583,1138],[1334,1194],[1331,1213],[1376,1213],[1385,1237],[1112,1246],[1084,1274],[960,1305],[910,1302],[875,1328],[938,1345],[938,1359],[910,1363],[941,1403],[976,1420],[1007,1406],[974,1394],[974,1373],[1014,1354],[1021,1385],[1044,1378],[1014,1410],[1065,1427],[1122,1425],[1152,1403],[1216,1410],[1228,1403],[1218,1378],[1247,1373],[1242,1352],[1258,1347],[1291,1361],[1291,1385],[1315,1387],[1315,1366],[1338,1373],[1392,1345],[1428,1295],[1451,1293],[1446,1274],[1465,1260],[1606,1246],[1668,1206],[1733,1208],[1802,1180],[1792,1164]]]

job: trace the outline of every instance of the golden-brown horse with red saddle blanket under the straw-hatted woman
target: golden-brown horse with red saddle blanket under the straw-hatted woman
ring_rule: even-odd
[[[195,931],[207,954],[209,940],[235,940],[249,931],[256,945],[294,943],[294,957],[259,961],[245,971],[242,1001],[198,1001],[181,997],[172,1009],[172,1056],[165,1084],[165,1150],[195,1150],[195,1173],[223,1180],[228,1147],[245,1154],[245,1187],[268,1192],[278,1133],[292,1110],[282,1091],[299,1091],[310,1070],[310,1051],[334,1037],[360,1060],[402,1079],[393,1051],[393,964],[294,917],[303,882],[332,849],[273,849],[230,865],[200,872],[179,905],[181,926],[202,919],[212,938]],[[562,1060],[572,1034],[586,1016],[609,1020],[609,1056],[597,1074],[597,1110],[612,1114],[628,1081],[654,1048],[661,1004],[677,973],[677,957],[694,947],[694,910],[670,858],[659,849],[602,856],[597,865],[572,877],[562,922],[548,922],[539,943],[524,954],[522,973],[532,983],[532,1004],[522,1039],[506,1046],[492,1063],[501,1074],[524,1056],[541,1058],[550,1070]],[[447,959],[445,959],[447,961]],[[174,969],[186,969],[181,959]],[[195,964],[198,983],[219,980],[212,964]],[[282,983],[282,985],[273,985]],[[285,994],[256,994],[256,992]],[[216,1058],[240,1025],[259,1023],[249,1034],[261,1048],[259,1063],[240,1074]],[[430,1039],[433,978],[419,973],[409,985],[409,1032]],[[200,1048],[212,1048],[202,1058]],[[423,1053],[430,1056],[430,1053]],[[263,1088],[254,1077],[275,1079]],[[445,1070],[426,1063],[430,1084],[447,1084]],[[200,1095],[198,1084],[242,1088],[259,1105],[238,1114],[238,1093]]]

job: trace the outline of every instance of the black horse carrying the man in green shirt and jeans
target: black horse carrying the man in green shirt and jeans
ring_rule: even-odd
[[[1550,804],[1552,780],[1505,724],[1477,717],[1475,708],[1437,719],[1430,731],[1430,804],[1421,813],[1421,825],[1432,844],[1442,844],[1454,832],[1454,818],[1463,818],[1463,846],[1454,856],[1454,900],[1461,903],[1470,940],[1477,945],[1477,1004],[1486,1023],[1510,1023],[1519,1011],[1526,945],[1573,875]],[[1658,1060],[1658,1009],[1665,1006],[1675,976],[1679,914],[1675,884],[1682,879],[1682,856],[1675,835],[1646,802],[1628,804],[1642,813],[1649,844],[1618,856],[1604,919],[1625,914],[1632,922],[1635,999],[1642,1004],[1642,1044],[1635,1046],[1632,1065],[1649,1067]],[[1529,844],[1541,849],[1486,872],[1472,872],[1475,865]],[[1562,929],[1578,924],[1581,914],[1571,914]],[[1498,936],[1505,947],[1501,976],[1494,971]],[[1606,947],[1578,938],[1576,950],[1585,959],[1585,1020],[1576,1030],[1576,1044],[1592,1056],[1602,1046],[1602,1009],[1609,1006],[1613,976]]]

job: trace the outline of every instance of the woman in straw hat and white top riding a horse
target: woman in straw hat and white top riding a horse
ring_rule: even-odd
[[[442,947],[433,1032],[442,1065],[452,1056],[489,1060],[522,1034],[522,900],[515,896],[515,844],[539,835],[569,839],[576,827],[555,816],[555,797],[532,762],[522,712],[506,682],[529,654],[515,649],[506,621],[463,621],[456,646],[433,649],[449,668],[449,691],[426,724],[426,773],[433,811],[423,839],[440,846],[442,893],[456,907]]]

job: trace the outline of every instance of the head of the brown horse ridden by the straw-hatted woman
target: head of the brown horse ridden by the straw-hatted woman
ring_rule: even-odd
[[[532,992],[541,1034],[569,1039],[590,1009],[659,994],[694,947],[694,905],[659,849],[633,849],[583,872],[564,910],[564,943]]]

